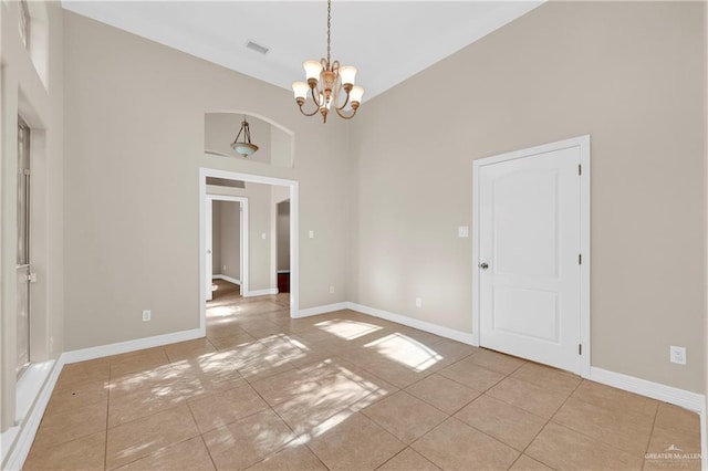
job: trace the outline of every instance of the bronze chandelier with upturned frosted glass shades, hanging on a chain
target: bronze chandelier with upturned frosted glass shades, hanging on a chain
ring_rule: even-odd
[[[340,61],[331,61],[331,27],[332,0],[327,0],[327,57],[320,61],[305,61],[302,65],[305,69],[308,83],[294,82],[292,84],[300,113],[313,116],[320,112],[324,123],[327,122],[327,114],[332,108],[344,119],[353,118],[364,94],[364,88],[354,85],[356,67],[352,65],[340,66]],[[312,113],[303,109],[308,93],[315,104]],[[346,108],[347,104],[348,108]]]

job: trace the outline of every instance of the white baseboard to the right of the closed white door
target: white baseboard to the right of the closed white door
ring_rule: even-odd
[[[699,414],[706,410],[706,396],[698,393],[635,378],[634,376],[623,375],[621,373],[608,371],[595,366],[590,368],[589,379],[617,389],[650,397],[652,399],[673,404]]]

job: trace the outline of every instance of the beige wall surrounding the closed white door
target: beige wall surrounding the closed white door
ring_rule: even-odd
[[[592,364],[702,393],[702,8],[546,3],[362,107],[352,301],[472,331],[472,160],[590,134]]]

